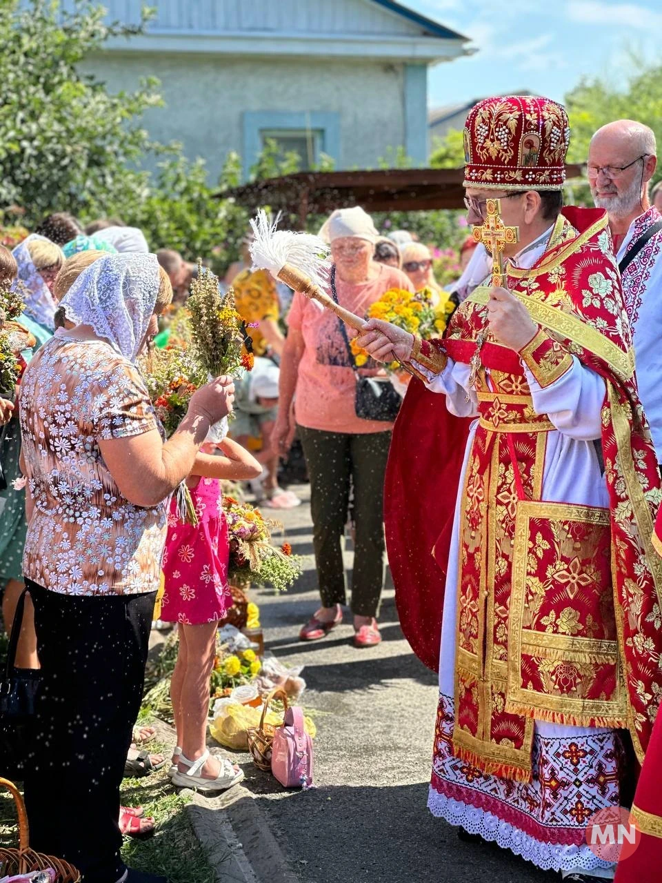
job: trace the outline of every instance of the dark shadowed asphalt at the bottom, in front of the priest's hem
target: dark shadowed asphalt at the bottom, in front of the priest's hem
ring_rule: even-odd
[[[459,841],[456,829],[427,811],[427,789],[427,782],[324,786],[255,800],[301,883],[558,881],[507,850]]]

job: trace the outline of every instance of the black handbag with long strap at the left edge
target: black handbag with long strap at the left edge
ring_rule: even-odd
[[[41,679],[39,668],[16,668],[27,589],[21,592],[11,624],[4,677],[0,680],[0,775],[21,780],[32,736],[34,708]]]

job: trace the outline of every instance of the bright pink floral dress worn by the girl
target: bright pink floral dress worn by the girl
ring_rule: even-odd
[[[228,525],[218,479],[199,479],[191,488],[191,496],[199,518],[197,527],[184,524],[177,516],[176,496],[170,502],[161,619],[201,625],[222,619],[232,606]]]

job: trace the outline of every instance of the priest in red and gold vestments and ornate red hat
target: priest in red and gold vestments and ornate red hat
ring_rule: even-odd
[[[474,291],[443,340],[371,320],[358,343],[383,361],[395,353],[473,419],[456,495],[405,505],[387,484],[385,499],[391,524],[434,513],[441,529],[453,509],[449,542],[434,547],[447,572],[440,635],[412,601],[417,581],[396,585],[405,633],[440,660],[429,808],[576,881],[613,877],[586,827],[627,802],[633,747],[641,761],[651,736],[662,562],[651,546],[657,462],[607,217],[562,208],[568,140],[555,102],[479,102],[464,130],[465,201],[481,226],[500,200],[518,234],[501,240],[502,284]],[[395,462],[440,435],[409,396]],[[444,457],[430,458],[430,487]]]

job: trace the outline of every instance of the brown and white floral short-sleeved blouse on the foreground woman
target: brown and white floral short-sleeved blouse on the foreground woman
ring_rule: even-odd
[[[23,456],[34,513],[23,571],[68,595],[155,592],[167,506],[134,506],[99,442],[158,428],[138,369],[104,341],[51,338],[20,389]]]

